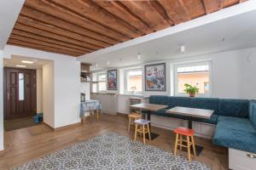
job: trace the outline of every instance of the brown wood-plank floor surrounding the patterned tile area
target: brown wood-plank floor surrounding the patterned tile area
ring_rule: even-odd
[[[55,150],[61,150],[70,144],[78,143],[106,132],[116,132],[133,137],[133,130],[127,133],[127,117],[124,115],[101,115],[100,121],[87,120],[84,125],[70,127],[60,131],[52,131],[42,124],[26,127],[4,133],[5,150],[0,152],[0,169],[11,169],[17,165],[31,161],[34,158],[48,155]],[[152,127],[154,133],[159,133],[157,139],[148,143],[164,150],[173,151],[174,134],[170,130]],[[212,144],[209,139],[195,138],[195,143],[205,147],[201,156],[192,156],[195,161],[201,161],[212,166],[213,170],[228,169],[227,149]],[[187,156],[185,152],[178,154]]]

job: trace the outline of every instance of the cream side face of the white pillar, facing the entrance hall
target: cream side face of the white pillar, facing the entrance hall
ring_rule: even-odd
[[[55,127],[55,77],[54,62],[43,65],[43,111],[44,122]]]

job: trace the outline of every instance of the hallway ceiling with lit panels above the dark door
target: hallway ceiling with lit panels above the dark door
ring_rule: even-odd
[[[33,64],[25,64],[25,63],[21,62],[22,60],[33,61],[34,63]],[[12,55],[12,57],[10,59],[3,59],[3,66],[4,67],[20,68],[16,65],[26,65],[26,68],[24,68],[24,69],[40,69],[43,67],[43,65],[45,65],[48,62],[49,62],[49,60],[47,60],[47,59],[32,59],[31,57]]]

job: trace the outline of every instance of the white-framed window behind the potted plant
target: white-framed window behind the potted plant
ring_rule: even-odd
[[[199,88],[198,96],[211,95],[211,65],[210,62],[175,65],[175,95],[185,95],[185,83]]]

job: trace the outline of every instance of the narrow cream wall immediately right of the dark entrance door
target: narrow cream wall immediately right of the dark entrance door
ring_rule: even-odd
[[[43,69],[37,69],[37,113],[43,112]]]

